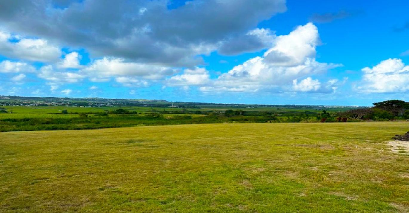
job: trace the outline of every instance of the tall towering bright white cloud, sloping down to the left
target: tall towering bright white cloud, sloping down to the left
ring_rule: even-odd
[[[315,47],[318,44],[319,34],[314,24],[299,26],[289,35],[277,36],[274,45],[263,57],[251,58],[237,65],[200,90],[237,92],[276,90],[291,85],[295,79],[306,78],[340,66],[315,61]]]

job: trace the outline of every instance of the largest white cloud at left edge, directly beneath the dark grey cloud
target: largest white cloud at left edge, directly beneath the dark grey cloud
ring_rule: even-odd
[[[10,39],[16,39],[11,42]],[[61,56],[61,50],[51,45],[47,40],[11,36],[0,31],[0,54],[9,58],[40,62],[56,62]]]

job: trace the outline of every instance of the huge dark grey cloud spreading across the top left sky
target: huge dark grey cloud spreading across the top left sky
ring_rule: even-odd
[[[63,2],[4,1],[0,21],[9,31],[83,47],[92,57],[193,67],[202,63],[197,55],[241,38],[260,21],[286,10],[285,0],[193,0],[171,10],[168,1]],[[248,47],[260,45],[252,41]]]

